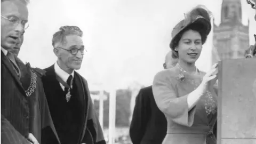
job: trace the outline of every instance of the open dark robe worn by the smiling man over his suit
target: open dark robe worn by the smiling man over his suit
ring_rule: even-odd
[[[56,103],[52,101],[53,97],[59,97],[59,92],[58,90],[61,88],[60,84],[56,78],[55,70],[54,70],[54,65],[51,67],[48,67],[44,69],[46,71],[46,75],[43,76],[43,85],[44,85],[44,90],[46,94],[47,101],[49,103],[49,108],[52,117],[54,117],[53,113],[53,108]],[[86,144],[101,144],[101,143],[106,143],[103,137],[103,132],[101,129],[101,126],[98,121],[98,117],[95,114],[95,110],[93,108],[93,103],[90,97],[90,91],[88,89],[88,85],[86,80],[79,75],[78,73],[75,72],[75,82],[77,87],[78,87],[78,93],[80,94],[79,97],[82,98],[82,125],[80,126],[81,129],[79,130],[79,139],[78,143],[86,143]],[[54,122],[53,119],[53,123]],[[58,132],[57,132],[58,133]],[[45,138],[44,143],[52,143],[52,135],[47,132],[47,130],[44,130],[43,132],[43,137]]]

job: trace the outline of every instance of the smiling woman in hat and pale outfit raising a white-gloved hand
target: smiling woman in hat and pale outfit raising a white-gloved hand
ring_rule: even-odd
[[[179,62],[157,73],[153,82],[156,104],[167,119],[164,144],[216,143],[217,64],[207,74],[195,66],[210,31],[209,13],[201,7],[173,28],[170,47]]]

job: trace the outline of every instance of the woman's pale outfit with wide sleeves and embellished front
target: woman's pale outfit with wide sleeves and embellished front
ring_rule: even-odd
[[[186,74],[178,65],[160,71],[153,83],[158,108],[167,119],[164,144],[215,144],[212,128],[217,120],[217,89],[207,90],[196,106],[188,109],[188,94],[201,83],[205,73]]]

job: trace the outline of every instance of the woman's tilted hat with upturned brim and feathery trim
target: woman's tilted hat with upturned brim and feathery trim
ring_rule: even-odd
[[[170,43],[172,50],[175,49],[175,42],[180,40],[179,35],[191,25],[198,25],[200,30],[204,31],[204,34],[206,34],[205,36],[209,35],[212,28],[209,12],[203,7],[197,6],[185,15],[185,19],[181,20],[172,30],[172,41]]]

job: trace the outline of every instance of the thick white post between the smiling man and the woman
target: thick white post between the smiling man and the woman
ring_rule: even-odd
[[[109,132],[108,144],[115,144],[116,123],[116,89],[112,89],[109,94]]]

